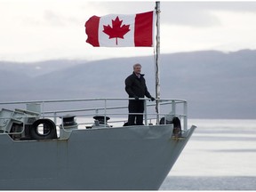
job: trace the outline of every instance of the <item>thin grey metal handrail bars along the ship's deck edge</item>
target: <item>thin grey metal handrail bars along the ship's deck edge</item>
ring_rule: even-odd
[[[15,104],[40,104],[41,106],[41,113],[39,117],[52,117],[54,119],[54,123],[57,123],[57,118],[60,117],[63,121],[63,117],[65,116],[65,114],[67,115],[67,113],[76,113],[76,112],[90,112],[93,111],[93,113],[91,114],[78,114],[76,115],[77,117],[83,117],[83,116],[96,116],[96,115],[102,115],[104,116],[104,123],[105,125],[107,124],[106,121],[106,116],[117,116],[117,115],[129,115],[129,113],[109,113],[109,110],[114,110],[114,109],[124,109],[127,108],[126,106],[115,106],[115,107],[108,107],[108,101],[112,101],[112,100],[134,100],[133,98],[95,98],[95,99],[76,99],[76,100],[29,100],[29,101],[9,101],[9,102],[0,102],[0,108],[1,105],[15,105]],[[156,106],[156,103],[149,103],[147,104],[147,101],[149,99],[145,98],[145,99],[140,99],[140,100],[144,100],[145,101],[145,109],[144,109],[144,113],[140,114],[140,115],[144,115],[144,121],[145,121],[145,125],[148,125],[148,120],[150,120],[150,122],[153,119],[156,118],[152,118],[152,117],[148,117],[148,116],[154,116],[156,115],[156,113],[150,113],[148,112],[149,107],[154,107]],[[157,100],[157,99],[156,99]],[[69,109],[59,109],[59,110],[44,110],[44,107],[46,104],[54,104],[54,103],[67,103],[67,102],[86,102],[86,101],[104,101],[103,107],[99,107],[99,108],[69,108]],[[187,129],[187,113],[188,113],[188,106],[187,106],[187,101],[186,100],[180,100],[180,99],[158,99],[159,104],[164,106],[164,105],[171,105],[171,112],[170,113],[161,113],[161,111],[158,112],[158,116],[180,116],[183,118],[183,127],[186,130]],[[177,105],[178,104],[182,104],[183,108],[182,108],[182,112],[178,113],[177,112]],[[19,109],[20,110],[20,109]],[[103,110],[101,113],[100,111]],[[22,109],[21,109],[22,111]],[[24,110],[26,112],[26,110]],[[33,111],[32,111],[33,112]],[[131,113],[130,113],[131,115]],[[139,113],[134,113],[134,115],[139,115]],[[32,115],[31,115],[32,116]],[[15,116],[15,118],[22,118],[24,116]],[[29,117],[29,115],[27,115],[26,117]],[[34,116],[32,116],[34,117]],[[6,119],[6,117],[2,117],[0,116],[0,120],[1,119]],[[125,121],[120,121],[120,122],[125,122]],[[63,124],[63,122],[62,122]],[[1,127],[0,127],[1,128]]]

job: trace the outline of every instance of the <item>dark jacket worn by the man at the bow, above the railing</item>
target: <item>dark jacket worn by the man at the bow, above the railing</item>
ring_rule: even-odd
[[[125,79],[125,91],[128,93],[129,98],[144,98],[144,95],[151,98],[148,88],[146,86],[146,81],[144,74],[140,74],[140,78],[133,72],[131,76]]]

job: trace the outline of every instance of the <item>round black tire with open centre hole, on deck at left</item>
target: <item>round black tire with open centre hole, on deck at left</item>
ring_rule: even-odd
[[[42,133],[38,131],[40,124],[43,124],[44,127]],[[30,135],[34,140],[57,139],[56,125],[51,119],[38,119],[31,125]]]

